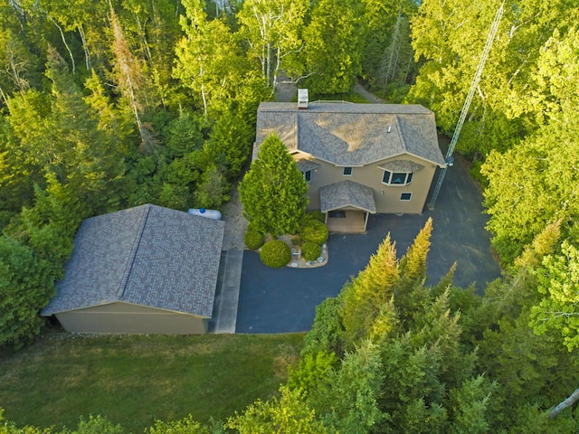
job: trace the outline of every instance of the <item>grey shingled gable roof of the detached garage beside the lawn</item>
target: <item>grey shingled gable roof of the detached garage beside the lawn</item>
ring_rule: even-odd
[[[43,315],[121,301],[211,317],[223,230],[151,204],[86,219]]]

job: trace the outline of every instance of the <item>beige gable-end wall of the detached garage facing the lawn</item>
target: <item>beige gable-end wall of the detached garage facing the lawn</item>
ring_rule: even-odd
[[[169,312],[128,303],[110,303],[55,315],[72,333],[140,335],[202,335],[206,321],[199,316]]]

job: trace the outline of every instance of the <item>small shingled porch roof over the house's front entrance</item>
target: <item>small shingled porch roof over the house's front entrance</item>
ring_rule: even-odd
[[[321,212],[353,206],[367,212],[376,212],[374,190],[354,181],[340,181],[319,189]]]

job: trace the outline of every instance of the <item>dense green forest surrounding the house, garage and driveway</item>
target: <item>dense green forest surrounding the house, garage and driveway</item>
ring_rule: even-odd
[[[576,432],[574,0],[0,0],[0,346],[41,331],[83,219],[226,203],[278,80],[314,99],[361,82],[451,135],[500,5],[457,151],[502,278],[427,287],[431,223],[400,259],[386,239],[318,307],[278,396],[149,432]]]

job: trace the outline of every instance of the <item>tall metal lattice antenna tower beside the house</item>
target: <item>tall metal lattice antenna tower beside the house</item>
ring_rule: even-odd
[[[441,173],[438,176],[438,181],[436,182],[436,186],[434,187],[434,192],[432,192],[431,201],[428,203],[428,207],[432,210],[434,209],[434,203],[436,202],[436,198],[438,197],[438,193],[441,192],[442,181],[444,180],[444,175],[446,175],[446,171],[448,170],[449,166],[452,165],[454,158],[452,157],[452,153],[454,152],[454,146],[456,146],[456,142],[459,140],[460,136],[460,129],[462,129],[462,124],[464,124],[464,119],[467,118],[467,114],[469,113],[470,109],[470,102],[472,101],[472,97],[474,96],[475,90],[477,90],[477,86],[479,86],[480,76],[482,75],[482,70],[485,67],[485,63],[487,62],[487,58],[489,57],[490,48],[492,47],[492,42],[495,40],[495,36],[497,35],[498,31],[498,24],[500,24],[500,20],[503,17],[503,11],[505,2],[500,5],[498,8],[497,14],[495,14],[495,19],[492,22],[489,30],[489,36],[487,36],[487,42],[485,43],[485,48],[482,50],[482,54],[480,55],[479,66],[477,66],[477,71],[474,73],[474,77],[470,82],[470,89],[469,93],[467,94],[467,99],[464,100],[464,105],[462,106],[462,110],[460,111],[459,122],[456,124],[456,128],[454,129],[454,134],[452,135],[451,145],[449,146],[449,150],[446,152],[446,156],[444,157],[444,162],[446,163],[445,167],[441,169]]]

